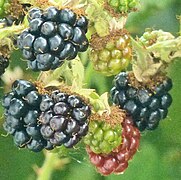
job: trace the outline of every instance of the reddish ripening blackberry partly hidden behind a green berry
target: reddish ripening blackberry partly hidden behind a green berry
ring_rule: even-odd
[[[140,133],[133,126],[131,118],[127,117],[122,122],[122,143],[109,154],[96,154],[89,147],[87,153],[91,163],[97,171],[104,175],[111,173],[120,174],[128,167],[128,161],[133,158],[139,147]]]

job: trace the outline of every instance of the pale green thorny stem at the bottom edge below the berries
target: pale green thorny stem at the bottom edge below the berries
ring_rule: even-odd
[[[59,159],[57,153],[45,154],[43,166],[37,170],[37,180],[49,180],[54,169],[61,169],[65,164],[69,163],[68,158]]]

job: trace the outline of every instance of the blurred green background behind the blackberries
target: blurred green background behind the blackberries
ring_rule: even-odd
[[[181,15],[180,0],[141,0],[140,12],[132,13],[127,22],[127,29],[140,36],[145,28],[163,29],[178,35],[179,21],[176,15]],[[11,58],[11,68],[26,63],[21,61],[16,52]],[[75,156],[70,157],[70,163],[61,170],[55,170],[53,180],[180,180],[181,179],[181,59],[176,60],[170,68],[169,76],[173,80],[171,94],[173,104],[169,109],[168,118],[160,123],[154,132],[142,134],[139,151],[129,163],[128,169],[122,175],[102,177],[88,162],[82,150],[78,149]],[[96,77],[96,78],[94,78]],[[33,78],[26,71],[25,79]],[[102,83],[100,83],[102,82]],[[1,82],[1,86],[2,86]],[[92,75],[92,86],[102,93],[109,91],[111,79],[105,79],[96,73]],[[3,89],[0,90],[0,96]],[[2,115],[2,109],[0,108]],[[2,129],[0,120],[0,134]],[[80,160],[80,161],[79,161]],[[32,153],[28,150],[18,150],[13,145],[11,136],[0,136],[0,180],[33,180],[36,179],[34,168],[44,162],[43,153]]]

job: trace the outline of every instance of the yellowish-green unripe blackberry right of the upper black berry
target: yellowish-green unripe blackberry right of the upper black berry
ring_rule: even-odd
[[[106,76],[118,74],[132,58],[129,35],[124,30],[105,37],[93,35],[89,57],[96,71]]]

